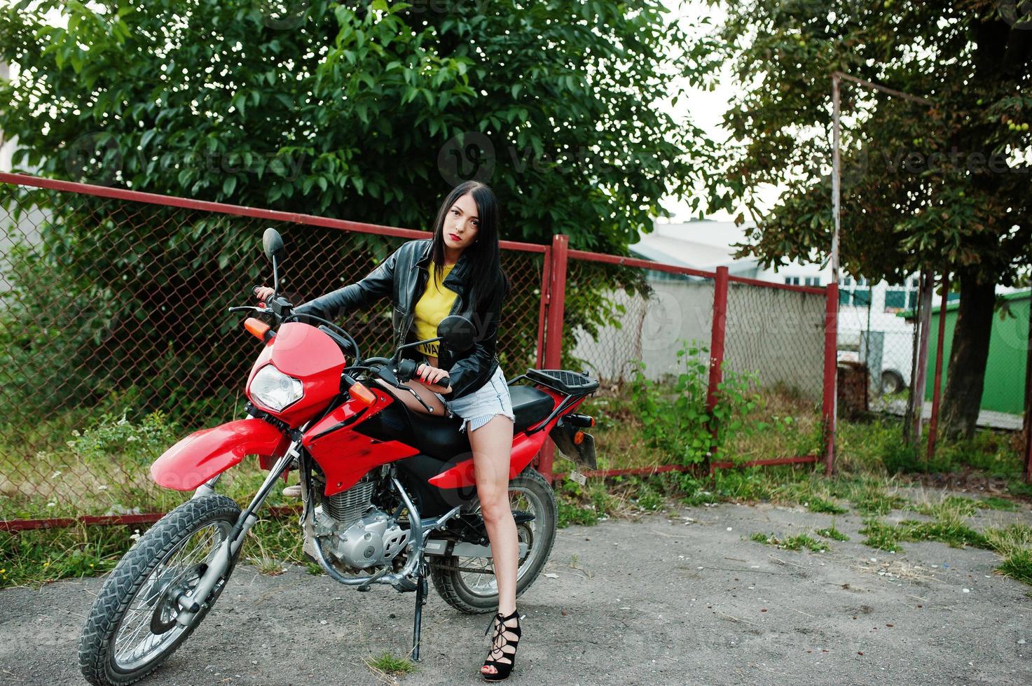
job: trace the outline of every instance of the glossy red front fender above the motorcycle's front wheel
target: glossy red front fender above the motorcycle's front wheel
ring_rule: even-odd
[[[159,486],[190,491],[212,477],[239,464],[245,455],[277,457],[290,436],[260,419],[240,419],[191,433],[151,465]]]

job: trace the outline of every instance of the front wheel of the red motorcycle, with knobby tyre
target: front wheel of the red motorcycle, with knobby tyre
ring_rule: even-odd
[[[187,640],[219,597],[229,571],[186,626],[176,621],[176,599],[196,587],[239,514],[236,502],[224,495],[193,498],[162,517],[125,554],[94,600],[79,638],[78,662],[87,681],[131,684]]]

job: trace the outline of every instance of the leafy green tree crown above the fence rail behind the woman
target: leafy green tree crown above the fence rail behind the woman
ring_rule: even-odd
[[[620,254],[698,178],[659,98],[707,67],[658,0],[100,4],[4,11],[15,164],[410,228],[476,176],[503,237]]]

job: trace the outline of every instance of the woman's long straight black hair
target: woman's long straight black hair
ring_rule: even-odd
[[[487,308],[494,298],[505,301],[511,288],[509,276],[502,270],[502,250],[498,248],[498,226],[501,211],[494,191],[486,184],[467,181],[451,190],[448,197],[441,203],[438,219],[433,223],[433,239],[430,254],[438,280],[444,277],[445,268],[445,218],[455,201],[469,193],[477,203],[477,240],[463,249],[469,253],[470,270],[466,272],[466,284],[473,293],[474,308],[481,312]],[[501,302],[499,301],[499,302]]]

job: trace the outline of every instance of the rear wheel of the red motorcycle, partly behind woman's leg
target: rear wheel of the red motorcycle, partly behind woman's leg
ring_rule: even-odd
[[[528,512],[534,519],[516,525],[520,543],[527,544],[516,571],[516,597],[535,582],[548,561],[555,543],[558,512],[552,487],[538,471],[527,467],[509,482],[509,501],[514,512]],[[473,512],[480,512],[474,499]],[[445,602],[459,612],[497,612],[498,586],[489,558],[445,557],[430,563],[433,586]]]

